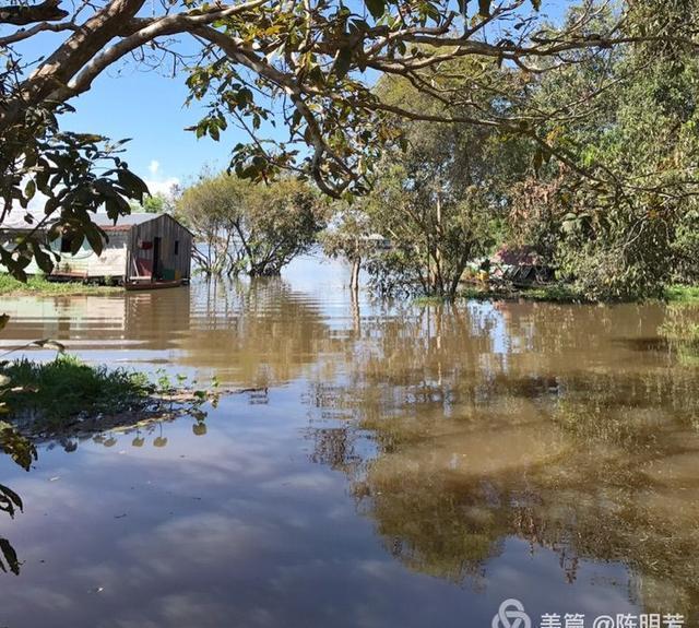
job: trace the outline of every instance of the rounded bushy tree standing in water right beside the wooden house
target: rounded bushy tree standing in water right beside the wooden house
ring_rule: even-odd
[[[200,242],[194,259],[208,276],[277,275],[323,226],[318,194],[289,178],[206,177],[182,192],[177,212]]]

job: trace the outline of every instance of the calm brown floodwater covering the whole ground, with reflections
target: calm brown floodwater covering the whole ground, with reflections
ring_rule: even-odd
[[[699,363],[659,334],[699,310],[353,301],[347,275],[3,299],[5,351],[257,390],[205,434],[3,457],[0,626],[488,628],[506,599],[699,625]]]

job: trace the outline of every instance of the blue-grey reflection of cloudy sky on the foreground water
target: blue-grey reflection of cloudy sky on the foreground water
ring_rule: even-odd
[[[355,513],[341,473],[308,463],[298,388],[266,406],[239,396],[192,437],[165,425],[165,448],[83,442],[42,450],[29,474],[5,460],[26,512],[2,521],[24,559],[3,581],[12,626],[489,625],[507,596],[532,611],[623,612],[624,570],[584,564],[566,583],[558,556],[511,541],[485,590],[406,570]],[[595,588],[600,577],[615,586]],[[486,621],[488,624],[486,624]]]

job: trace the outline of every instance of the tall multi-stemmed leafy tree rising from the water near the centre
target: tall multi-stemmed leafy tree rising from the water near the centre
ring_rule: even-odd
[[[381,81],[377,92],[387,103],[425,115],[471,107],[493,117],[512,115],[521,88],[519,70],[459,60],[445,63],[441,72],[439,83],[430,72],[420,76],[454,93],[469,90],[474,82],[489,83],[490,93],[473,95],[469,105],[460,106],[458,100],[446,104],[420,94],[402,79]],[[512,98],[498,95],[506,92]],[[367,270],[380,292],[401,289],[453,298],[469,261],[485,254],[498,237],[508,189],[529,164],[528,143],[497,128],[466,122],[404,123],[396,119],[395,125],[403,145],[387,151],[372,191],[353,209],[355,216],[347,221],[341,214],[339,235],[350,248],[353,242],[346,232],[353,226],[355,242],[367,234],[390,240],[387,250],[365,251]],[[352,250],[345,254],[359,257]]]

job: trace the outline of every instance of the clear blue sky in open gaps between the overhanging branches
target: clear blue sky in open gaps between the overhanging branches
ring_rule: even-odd
[[[556,19],[570,3],[570,0],[544,1],[543,11]],[[25,51],[39,57],[58,43],[57,35],[46,35]],[[171,79],[128,66],[104,73],[90,92],[72,100],[76,112],[66,116],[62,126],[66,130],[100,133],[114,140],[131,138],[126,161],[152,191],[165,191],[176,181],[192,180],[206,165],[223,169],[230,149],[247,140],[235,127],[220,142],[209,138],[197,140],[185,128],[199,120],[202,109],[198,105],[185,107],[186,97],[185,76]]]

